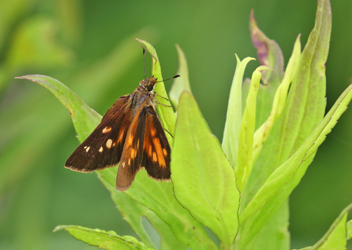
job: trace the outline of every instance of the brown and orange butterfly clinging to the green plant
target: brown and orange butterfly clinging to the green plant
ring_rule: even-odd
[[[119,191],[127,190],[142,168],[154,179],[169,180],[170,145],[155,110],[159,104],[154,92],[156,83],[154,76],[145,77],[132,94],[118,98],[67,159],[65,167],[92,172],[119,163],[116,177]]]

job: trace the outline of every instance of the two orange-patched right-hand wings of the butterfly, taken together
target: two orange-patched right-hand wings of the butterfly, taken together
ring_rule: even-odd
[[[170,146],[153,106],[142,107],[133,119],[123,148],[116,189],[128,189],[144,167],[155,179],[170,179]]]

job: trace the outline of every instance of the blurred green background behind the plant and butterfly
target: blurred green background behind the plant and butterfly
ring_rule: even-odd
[[[63,167],[78,146],[68,111],[24,74],[45,74],[103,114],[143,76],[138,37],[154,45],[163,76],[175,75],[184,50],[193,94],[222,138],[234,53],[256,57],[251,9],[280,45],[285,62],[299,33],[313,28],[314,0],[0,1],[0,249],[93,249],[59,224],[133,234],[95,174]],[[327,108],[351,83],[352,1],[332,1]],[[147,75],[150,71],[147,56]],[[259,66],[251,62],[245,75]],[[171,83],[166,83],[170,89]],[[352,110],[342,116],[290,198],[292,247],[313,245],[352,202]]]

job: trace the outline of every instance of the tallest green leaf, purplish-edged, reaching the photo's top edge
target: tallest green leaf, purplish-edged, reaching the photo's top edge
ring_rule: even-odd
[[[331,7],[319,0],[315,26],[309,35],[291,85],[282,133],[276,152],[279,164],[285,161],[309,136],[325,113],[325,62],[329,52]]]

